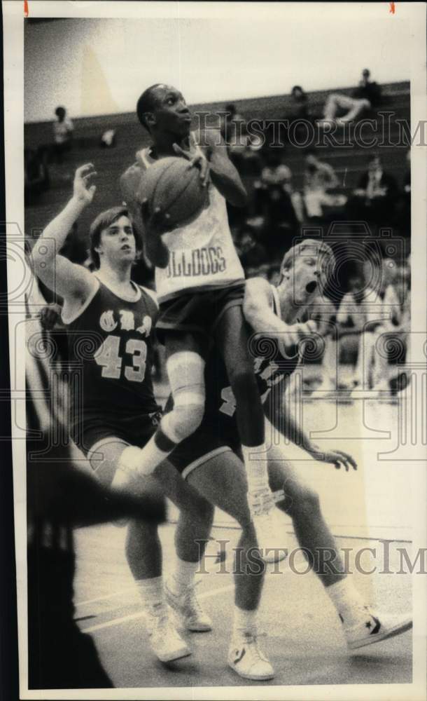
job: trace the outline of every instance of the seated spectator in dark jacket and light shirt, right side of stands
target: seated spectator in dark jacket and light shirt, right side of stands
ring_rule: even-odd
[[[367,170],[353,191],[353,198],[347,203],[349,217],[377,226],[393,224],[397,196],[395,178],[383,169],[379,156],[371,156]]]

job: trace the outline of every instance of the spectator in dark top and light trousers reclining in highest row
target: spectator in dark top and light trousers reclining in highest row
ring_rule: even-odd
[[[376,107],[381,99],[381,88],[374,81],[370,81],[370,71],[365,68],[362,72],[362,79],[358,87],[353,90],[351,97],[342,93],[332,93],[325,103],[323,119],[318,120],[318,124],[334,123],[345,125],[363,114],[363,112]],[[337,116],[339,111],[345,111],[342,116]]]

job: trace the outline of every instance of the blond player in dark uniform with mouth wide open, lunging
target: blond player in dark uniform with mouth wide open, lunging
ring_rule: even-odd
[[[281,282],[272,287],[263,278],[246,281],[244,313],[255,332],[262,337],[276,338],[286,355],[277,352],[273,358],[255,358],[255,371],[264,403],[267,426],[283,433],[283,421],[277,411],[277,397],[283,394],[288,378],[299,362],[298,334],[303,326],[295,325],[297,317],[318,294],[332,270],[333,254],[325,243],[307,240],[286,253],[281,265]],[[308,332],[311,327],[307,325]],[[293,352],[290,351],[295,344]],[[263,347],[262,340],[258,348]],[[264,348],[270,348],[265,345]],[[213,349],[207,362],[207,406],[202,425],[177,447],[169,460],[183,477],[204,498],[231,513],[239,523],[247,514],[246,479],[239,460],[239,441],[235,420],[235,398],[221,357]],[[356,469],[353,458],[340,450],[322,452],[290,416],[284,431],[293,442],[315,459]],[[412,627],[409,616],[379,615],[372,611],[346,576],[344,563],[337,552],[335,539],[323,519],[318,496],[286,460],[283,449],[272,441],[267,451],[270,485],[283,489],[285,499],[277,504],[293,519],[295,535],[303,552],[321,579],[342,620],[350,649],[360,648],[400,634]],[[284,529],[282,547],[286,544]],[[189,543],[188,547],[192,547]],[[184,557],[186,559],[186,557]],[[329,564],[328,564],[329,563]],[[255,584],[253,585],[255,587]],[[179,601],[169,594],[169,602],[179,610]],[[271,679],[273,669],[256,643],[258,606],[250,610],[235,607],[235,626],[228,662],[241,676],[249,679]],[[258,676],[257,676],[258,675]],[[265,675],[265,676],[262,676]]]

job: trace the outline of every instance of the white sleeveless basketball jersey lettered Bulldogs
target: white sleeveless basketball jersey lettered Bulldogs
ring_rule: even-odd
[[[192,133],[190,139],[199,147]],[[137,153],[139,165],[149,168],[156,161],[150,149]],[[169,248],[167,268],[155,268],[155,286],[159,301],[190,290],[227,287],[244,280],[237,251],[228,225],[225,199],[214,184],[208,186],[209,205],[185,226],[177,226],[162,236]]]

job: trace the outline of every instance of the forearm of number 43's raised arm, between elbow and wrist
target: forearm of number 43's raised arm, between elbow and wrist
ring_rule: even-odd
[[[77,198],[71,198],[62,212],[52,219],[45,230],[38,238],[32,250],[34,268],[36,272],[39,268],[43,270],[52,264],[65,243],[66,237],[71,231],[71,227],[80,217],[85,208],[85,203]]]

